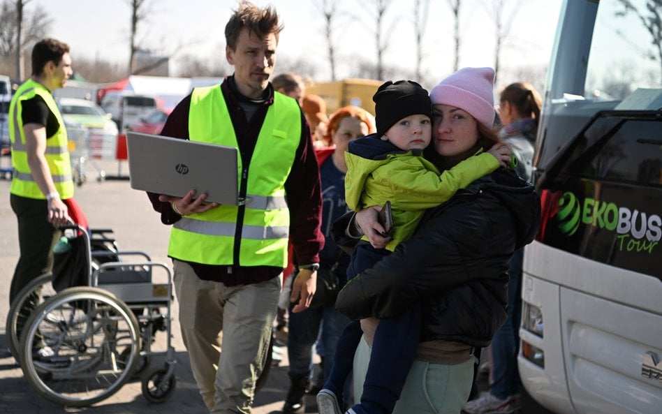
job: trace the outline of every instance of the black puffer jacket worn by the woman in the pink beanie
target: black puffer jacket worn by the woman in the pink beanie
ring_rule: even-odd
[[[533,186],[497,170],[430,209],[409,240],[347,283],[336,308],[353,319],[389,318],[421,302],[421,341],[487,346],[506,320],[510,257],[539,224]]]

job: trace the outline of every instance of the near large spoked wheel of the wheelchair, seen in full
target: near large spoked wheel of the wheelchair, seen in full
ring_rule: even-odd
[[[38,355],[39,346],[52,355]],[[131,378],[139,357],[133,312],[100,288],[62,290],[34,311],[21,334],[25,377],[38,394],[63,406],[89,406],[110,397]]]

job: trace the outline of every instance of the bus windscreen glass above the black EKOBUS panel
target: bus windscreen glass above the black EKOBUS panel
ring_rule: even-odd
[[[568,2],[571,3],[571,2]],[[598,2],[588,7],[598,8]],[[564,34],[557,35],[552,66],[545,85],[545,102],[534,165],[545,170],[552,158],[580,131],[599,110],[644,110],[662,107],[662,42],[644,24],[654,18],[646,0],[629,1],[636,11],[624,13],[624,2],[599,2],[595,27],[591,34],[590,20],[583,24],[566,25]],[[574,5],[573,5],[574,6]],[[660,6],[654,6],[657,16]],[[640,13],[640,14],[638,14]],[[577,18],[577,17],[575,17]],[[589,18],[589,17],[587,17]],[[568,57],[564,50],[580,49],[580,57]],[[635,91],[653,89],[657,92],[658,108],[645,108],[645,99],[631,99],[628,108],[619,108]],[[536,174],[539,177],[539,173]]]

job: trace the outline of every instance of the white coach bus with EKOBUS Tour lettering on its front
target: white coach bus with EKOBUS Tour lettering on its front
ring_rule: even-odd
[[[518,363],[559,414],[662,413],[662,0],[565,0]]]

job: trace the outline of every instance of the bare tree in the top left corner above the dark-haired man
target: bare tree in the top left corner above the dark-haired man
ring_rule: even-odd
[[[44,10],[26,10],[29,1],[4,0],[0,6],[0,57],[14,57],[15,77],[20,80],[24,77],[24,50],[44,38],[51,24]]]

